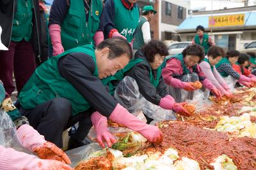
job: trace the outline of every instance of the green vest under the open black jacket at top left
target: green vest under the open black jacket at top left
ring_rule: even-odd
[[[32,0],[18,0],[17,11],[15,12],[12,24],[12,41],[30,41],[32,34]]]

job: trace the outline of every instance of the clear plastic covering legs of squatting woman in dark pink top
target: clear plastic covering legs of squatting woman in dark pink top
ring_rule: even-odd
[[[199,77],[198,77],[198,74],[191,73],[191,74],[185,74],[180,78],[180,80],[184,82],[195,82],[195,81],[199,81]],[[202,99],[207,98],[207,92],[205,92],[204,94],[204,92],[200,89],[195,90],[193,92],[189,92],[184,89],[167,86],[167,91],[175,99],[177,103],[198,102]]]

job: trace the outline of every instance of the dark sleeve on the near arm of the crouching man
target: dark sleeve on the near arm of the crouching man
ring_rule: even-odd
[[[85,53],[70,53],[58,61],[60,75],[72,84],[92,107],[109,117],[117,102],[96,76],[95,62]]]

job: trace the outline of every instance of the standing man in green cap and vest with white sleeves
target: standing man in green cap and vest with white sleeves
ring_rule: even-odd
[[[136,28],[133,42],[133,53],[135,54],[145,43],[148,43],[151,39],[150,35],[150,20],[157,13],[152,5],[144,6],[142,10],[142,17],[140,18],[139,25]]]

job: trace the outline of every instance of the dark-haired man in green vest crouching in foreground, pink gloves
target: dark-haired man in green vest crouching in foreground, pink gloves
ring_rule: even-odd
[[[123,38],[102,41],[95,49],[84,45],[51,57],[38,67],[19,95],[20,113],[47,141],[62,147],[62,132],[79,122],[68,148],[84,145],[92,124],[100,145],[111,146],[107,118],[139,132],[150,142],[161,138],[155,126],[147,125],[125,110],[106,90],[108,76],[123,69],[132,58]],[[99,111],[99,112],[98,112]]]

